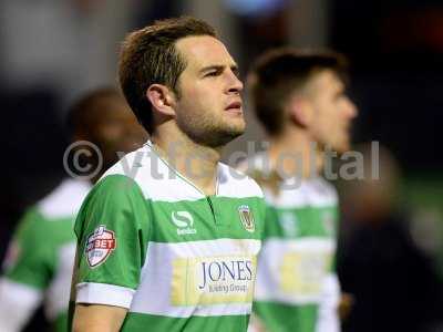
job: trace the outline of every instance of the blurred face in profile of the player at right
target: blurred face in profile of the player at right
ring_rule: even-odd
[[[324,70],[316,73],[308,83],[312,121],[309,131],[322,147],[338,153],[350,149],[350,128],[357,116],[357,107],[344,93],[344,84],[334,72]]]

